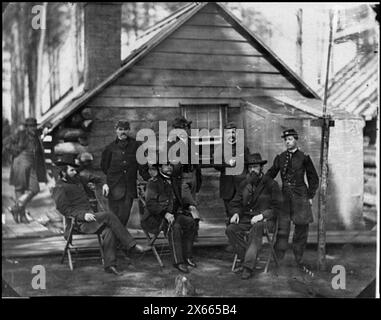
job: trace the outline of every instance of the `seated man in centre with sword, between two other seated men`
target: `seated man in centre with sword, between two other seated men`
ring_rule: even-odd
[[[158,174],[147,183],[141,225],[151,233],[159,232],[160,228],[164,230],[175,268],[188,273],[188,266],[196,267],[192,261],[196,222],[189,211],[183,210],[180,186],[171,177],[173,166],[170,163],[153,166],[158,166]]]

